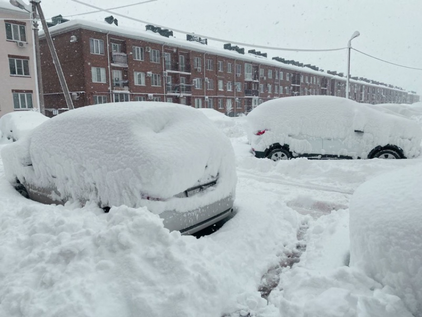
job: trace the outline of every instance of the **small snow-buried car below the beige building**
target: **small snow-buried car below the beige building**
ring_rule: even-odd
[[[0,143],[19,140],[48,119],[36,111],[6,113],[0,118]]]

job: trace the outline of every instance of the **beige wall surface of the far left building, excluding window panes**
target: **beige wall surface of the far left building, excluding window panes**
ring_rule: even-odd
[[[0,0],[0,117],[13,111],[30,110],[27,102],[32,96],[32,108],[38,108],[38,91],[36,89],[36,72],[34,65],[33,32],[29,13]],[[26,41],[18,47],[19,41],[6,38],[6,23],[23,25]],[[9,58],[29,61],[29,76],[10,75]],[[19,62],[18,62],[19,63]],[[15,97],[20,97],[19,108],[14,105]],[[17,95],[18,94],[18,95]],[[15,99],[16,101],[16,99]]]

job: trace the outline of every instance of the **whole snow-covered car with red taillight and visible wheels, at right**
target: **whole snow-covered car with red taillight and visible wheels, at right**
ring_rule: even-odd
[[[247,116],[257,158],[414,158],[416,121],[387,109],[334,96],[273,99]]]

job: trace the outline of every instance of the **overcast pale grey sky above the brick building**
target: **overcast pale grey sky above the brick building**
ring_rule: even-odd
[[[110,8],[141,0],[86,1]],[[46,17],[93,10],[71,0],[43,0],[41,5]],[[287,48],[346,47],[352,33],[358,30],[360,36],[352,41],[354,48],[393,63],[422,69],[422,0],[158,0],[115,11],[152,24],[212,37]],[[103,12],[77,18],[103,20],[107,15]],[[144,29],[142,23],[117,18],[119,26]],[[210,45],[222,47],[222,43]],[[266,52],[271,57],[280,56],[326,71],[346,73],[346,50]],[[351,74],[422,94],[422,71],[388,65],[354,51]]]

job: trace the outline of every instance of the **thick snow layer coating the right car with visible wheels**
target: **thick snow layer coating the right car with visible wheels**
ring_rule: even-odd
[[[248,139],[254,132],[267,129],[261,142],[288,144],[291,152],[306,153],[309,137],[357,142],[355,130],[363,131],[359,140],[362,153],[342,155],[366,157],[374,145],[396,145],[407,157],[420,153],[422,131],[416,122],[389,111],[379,111],[365,104],[334,96],[298,96],[266,101],[247,116]],[[261,151],[261,149],[260,149]]]

